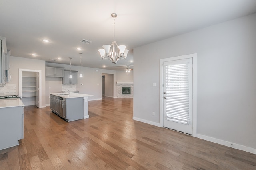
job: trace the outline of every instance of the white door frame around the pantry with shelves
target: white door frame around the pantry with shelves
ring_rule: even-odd
[[[38,73],[38,106],[42,108],[42,70],[29,70],[19,68],[19,96],[22,96],[22,71]]]

